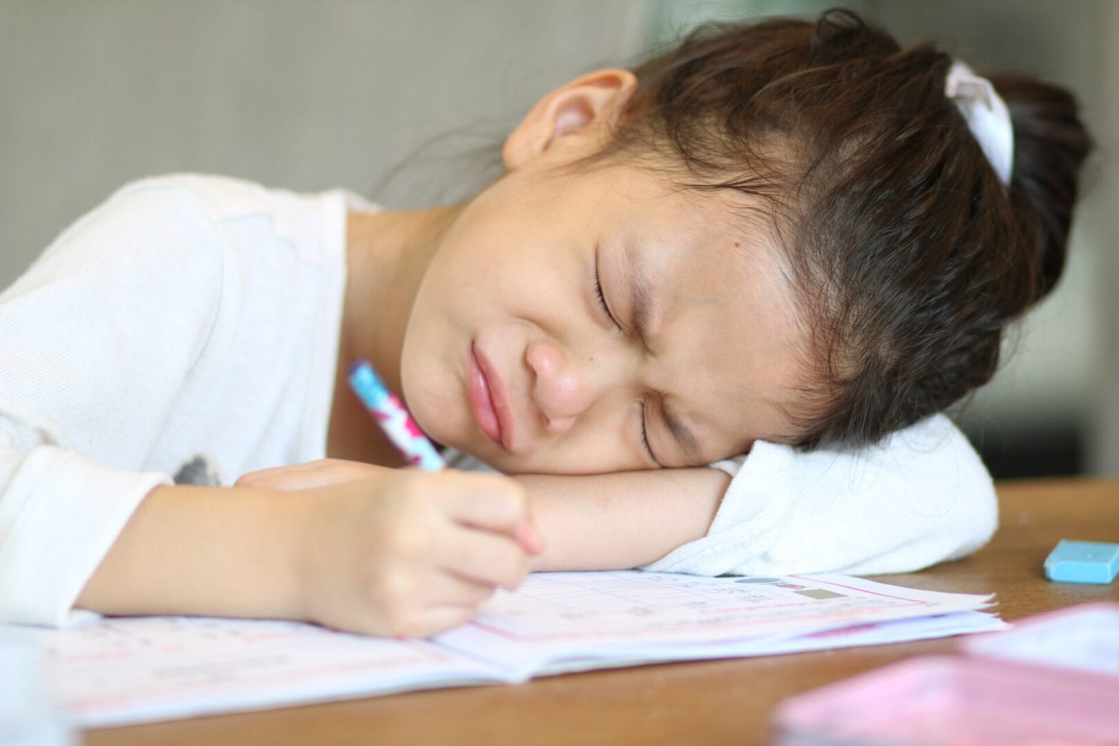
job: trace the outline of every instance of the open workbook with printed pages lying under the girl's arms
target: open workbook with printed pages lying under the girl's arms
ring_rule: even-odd
[[[198,616],[3,631],[45,650],[60,703],[79,726],[95,727],[1005,629],[978,611],[991,604],[991,595],[834,574],[538,573],[498,592],[474,621],[429,640]]]

